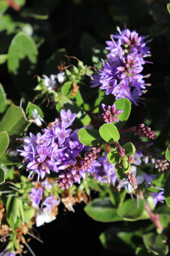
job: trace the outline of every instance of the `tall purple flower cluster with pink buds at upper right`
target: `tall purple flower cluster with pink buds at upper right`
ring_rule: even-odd
[[[147,37],[139,37],[136,30],[130,32],[127,28],[121,31],[119,27],[117,30],[119,34],[111,35],[111,41],[106,41],[106,49],[109,51],[107,61],[103,61],[103,69],[94,75],[91,87],[100,85],[100,89],[106,90],[106,95],[111,93],[116,100],[127,98],[138,105],[142,90],[150,86],[143,80],[148,76],[143,76],[140,72],[142,65],[149,62],[144,58],[150,57],[146,44],[151,40],[144,42]]]

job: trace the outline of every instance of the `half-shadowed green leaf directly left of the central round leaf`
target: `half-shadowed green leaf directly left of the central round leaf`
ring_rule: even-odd
[[[98,130],[82,128],[78,131],[78,139],[85,146],[97,146],[101,142]]]

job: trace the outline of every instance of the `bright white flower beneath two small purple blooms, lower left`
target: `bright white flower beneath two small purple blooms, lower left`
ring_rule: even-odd
[[[51,210],[48,209],[47,207],[43,208],[42,211],[38,210],[36,212],[36,226],[37,227],[40,227],[44,223],[49,223],[56,219],[56,216],[53,216],[53,218],[51,219],[50,212],[51,212]]]

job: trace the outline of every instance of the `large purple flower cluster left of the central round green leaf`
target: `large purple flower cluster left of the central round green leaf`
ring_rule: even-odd
[[[84,148],[78,140],[77,133],[71,133],[72,130],[67,129],[76,114],[72,114],[70,110],[62,110],[60,116],[61,122],[56,119],[50,123],[43,130],[43,135],[38,133],[34,136],[30,133],[30,137],[24,139],[24,150],[18,150],[24,157],[23,163],[27,164],[27,171],[31,171],[29,176],[37,173],[38,181],[40,177],[43,179],[46,173],[49,174],[50,170],[59,173],[60,170],[73,166],[76,157]]]

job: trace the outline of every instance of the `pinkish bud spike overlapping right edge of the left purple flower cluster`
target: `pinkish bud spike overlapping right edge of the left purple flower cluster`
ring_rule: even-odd
[[[91,166],[94,160],[100,158],[100,148],[92,147],[91,152],[87,152],[84,156],[83,163],[80,169],[84,172],[89,166]]]

